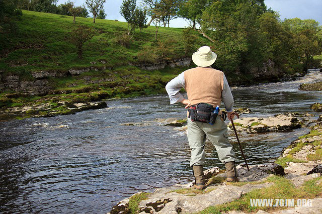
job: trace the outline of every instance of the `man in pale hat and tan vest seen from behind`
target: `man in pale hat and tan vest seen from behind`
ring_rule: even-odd
[[[170,103],[181,102],[185,104],[186,109],[189,109],[188,113],[191,113],[190,111],[195,109],[199,103],[211,106],[212,111],[217,105],[220,106],[222,100],[228,113],[228,119],[231,121],[234,117],[233,97],[224,73],[211,68],[216,58],[217,55],[210,50],[210,47],[200,47],[192,55],[192,60],[198,67],[188,69],[172,79],[168,82],[166,90],[170,97]],[[188,99],[185,99],[179,92],[181,88],[186,89]],[[220,161],[225,164],[226,181],[239,181],[235,166],[236,158],[228,140],[227,126],[220,117],[216,117],[214,120],[214,124],[211,125],[188,117],[187,137],[191,148],[190,166],[195,177],[194,188],[197,189],[205,187],[203,164],[205,162],[206,136],[215,146]]]

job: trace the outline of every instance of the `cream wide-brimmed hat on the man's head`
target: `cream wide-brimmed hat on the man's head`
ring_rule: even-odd
[[[217,59],[217,54],[211,51],[209,46],[202,46],[192,54],[192,61],[200,67],[208,67]]]

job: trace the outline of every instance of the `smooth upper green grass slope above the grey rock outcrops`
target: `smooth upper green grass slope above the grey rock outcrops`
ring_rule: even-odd
[[[91,62],[95,66],[103,66],[99,61],[104,60],[104,66],[115,67],[127,65],[128,62],[138,63],[149,61],[140,59],[137,55],[143,51],[159,47],[154,41],[155,27],[150,26],[141,33],[136,30],[132,43],[124,47],[117,43],[127,23],[97,20],[93,24],[91,18],[76,18],[49,13],[23,11],[22,20],[17,23],[18,30],[13,35],[0,35],[0,69],[5,72],[27,72],[44,70],[67,70],[69,68],[89,67]],[[76,25],[93,26],[98,29],[98,35],[85,46],[83,59],[78,59],[76,48],[70,43],[70,32]],[[185,55],[182,43],[182,29],[159,29],[160,43],[168,47],[164,51],[167,59],[181,58]],[[200,37],[200,44],[207,44],[207,40]],[[152,61],[152,60],[150,60]]]

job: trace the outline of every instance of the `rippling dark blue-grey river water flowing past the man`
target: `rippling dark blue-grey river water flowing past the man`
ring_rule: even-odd
[[[292,82],[234,87],[235,107],[263,117],[309,112],[320,91],[299,91],[301,83],[321,81],[310,71]],[[182,105],[169,105],[166,94],[107,101],[109,108],[53,118],[0,122],[0,212],[103,213],[137,191],[187,183],[193,176],[185,132],[152,123],[156,118],[184,118]],[[317,114],[315,114],[316,116]],[[243,163],[238,144],[230,141]],[[274,161],[283,147],[307,128],[286,133],[241,134],[250,164]],[[206,144],[205,168],[223,165]]]

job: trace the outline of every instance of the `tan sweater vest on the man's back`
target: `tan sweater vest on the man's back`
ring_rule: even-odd
[[[196,67],[184,72],[185,86],[191,105],[200,102],[212,104],[221,103],[223,90],[223,72],[211,67]]]

